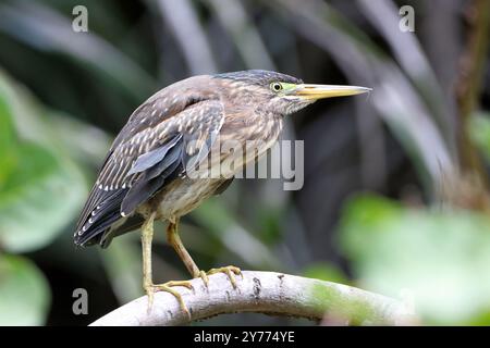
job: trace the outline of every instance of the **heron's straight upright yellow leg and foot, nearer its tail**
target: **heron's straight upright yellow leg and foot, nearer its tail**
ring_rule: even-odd
[[[191,282],[172,281],[164,284],[154,284],[151,274],[151,240],[154,238],[154,221],[155,221],[155,213],[151,213],[142,227],[143,287],[148,296],[148,311],[151,310],[155,291],[160,290],[172,294],[179,301],[182,311],[184,311],[191,318],[191,313],[187,307],[185,306],[181,294],[172,288],[173,286],[184,286],[188,289],[192,289],[193,286],[191,285]]]

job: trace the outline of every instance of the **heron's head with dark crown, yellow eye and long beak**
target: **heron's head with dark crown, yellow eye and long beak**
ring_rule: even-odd
[[[215,75],[228,82],[223,92],[242,104],[260,105],[267,111],[290,114],[319,99],[355,96],[370,88],[339,85],[311,85],[275,72],[249,70]]]

